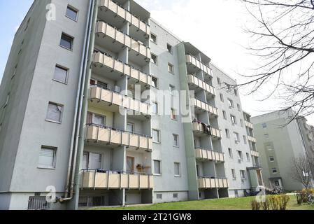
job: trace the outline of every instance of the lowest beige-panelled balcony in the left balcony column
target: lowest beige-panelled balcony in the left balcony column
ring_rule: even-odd
[[[89,189],[152,189],[152,174],[128,174],[125,172],[97,172],[83,170],[81,172],[81,188]]]

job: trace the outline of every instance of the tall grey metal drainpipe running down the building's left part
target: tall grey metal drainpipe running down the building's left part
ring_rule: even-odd
[[[85,28],[85,37],[84,37],[84,48],[82,54],[82,61],[80,62],[80,75],[78,78],[78,92],[76,97],[76,110],[74,113],[74,120],[73,120],[73,131],[71,136],[71,146],[70,146],[70,156],[69,156],[69,167],[68,167],[68,174],[66,177],[66,189],[63,198],[59,198],[59,202],[69,201],[73,198],[73,186],[74,186],[74,174],[76,170],[76,156],[78,152],[78,138],[80,133],[80,116],[81,111],[83,108],[83,98],[84,98],[84,86],[86,81],[86,68],[87,68],[87,59],[88,59],[88,52],[90,45],[90,35],[92,32],[92,22],[94,15],[94,2],[95,0],[90,0],[89,10],[87,14],[87,23]]]

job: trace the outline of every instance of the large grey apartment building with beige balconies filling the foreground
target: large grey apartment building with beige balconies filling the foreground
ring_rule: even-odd
[[[135,1],[35,0],[0,87],[0,209],[255,190],[259,153],[234,83]]]

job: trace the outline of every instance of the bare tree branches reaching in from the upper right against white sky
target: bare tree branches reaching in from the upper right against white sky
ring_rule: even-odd
[[[314,0],[239,0],[254,19],[245,27],[248,50],[258,57],[252,72],[241,74],[248,94],[264,87],[266,96],[283,100],[278,111],[314,113]],[[267,89],[267,91],[266,91]]]

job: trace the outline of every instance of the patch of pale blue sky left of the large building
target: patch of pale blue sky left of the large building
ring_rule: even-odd
[[[0,81],[6,67],[15,31],[31,7],[31,3],[33,3],[33,0],[0,0]]]

